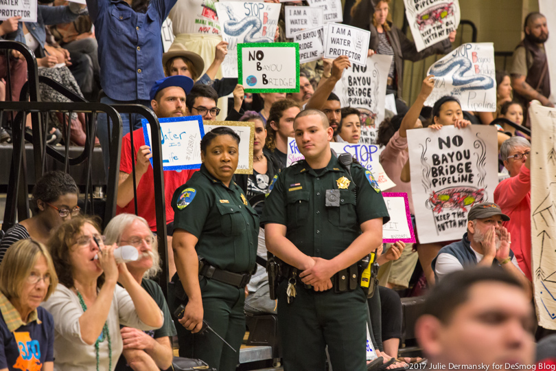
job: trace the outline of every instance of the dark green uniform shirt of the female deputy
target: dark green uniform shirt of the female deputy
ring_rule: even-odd
[[[174,192],[172,207],[174,229],[196,236],[197,254],[210,265],[235,273],[255,268],[259,216],[233,181],[224,186],[202,165]]]

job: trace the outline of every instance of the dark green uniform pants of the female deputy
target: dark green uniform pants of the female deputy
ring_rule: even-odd
[[[174,319],[178,330],[180,357],[202,359],[218,371],[235,371],[245,334],[245,291],[206,278],[202,278],[199,283],[202,308],[205,311],[203,319],[238,352],[233,352],[213,333],[207,331],[203,335],[192,334]]]

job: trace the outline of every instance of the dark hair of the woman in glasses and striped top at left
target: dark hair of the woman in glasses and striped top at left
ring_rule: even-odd
[[[33,188],[32,207],[34,212],[39,212],[36,201],[40,200],[53,203],[64,194],[79,194],[79,188],[71,175],[60,170],[45,173]]]

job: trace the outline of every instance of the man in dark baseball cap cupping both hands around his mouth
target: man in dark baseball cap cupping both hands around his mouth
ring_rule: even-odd
[[[502,267],[531,288],[510,249],[510,234],[502,221],[509,216],[496,203],[476,203],[467,214],[467,232],[461,241],[443,247],[432,260],[437,282],[453,271],[465,267]],[[511,264],[508,264],[511,263]],[[529,291],[531,293],[531,291]]]

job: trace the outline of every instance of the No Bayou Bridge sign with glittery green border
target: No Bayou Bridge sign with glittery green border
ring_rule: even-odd
[[[239,44],[238,71],[246,93],[298,93],[299,44]]]

